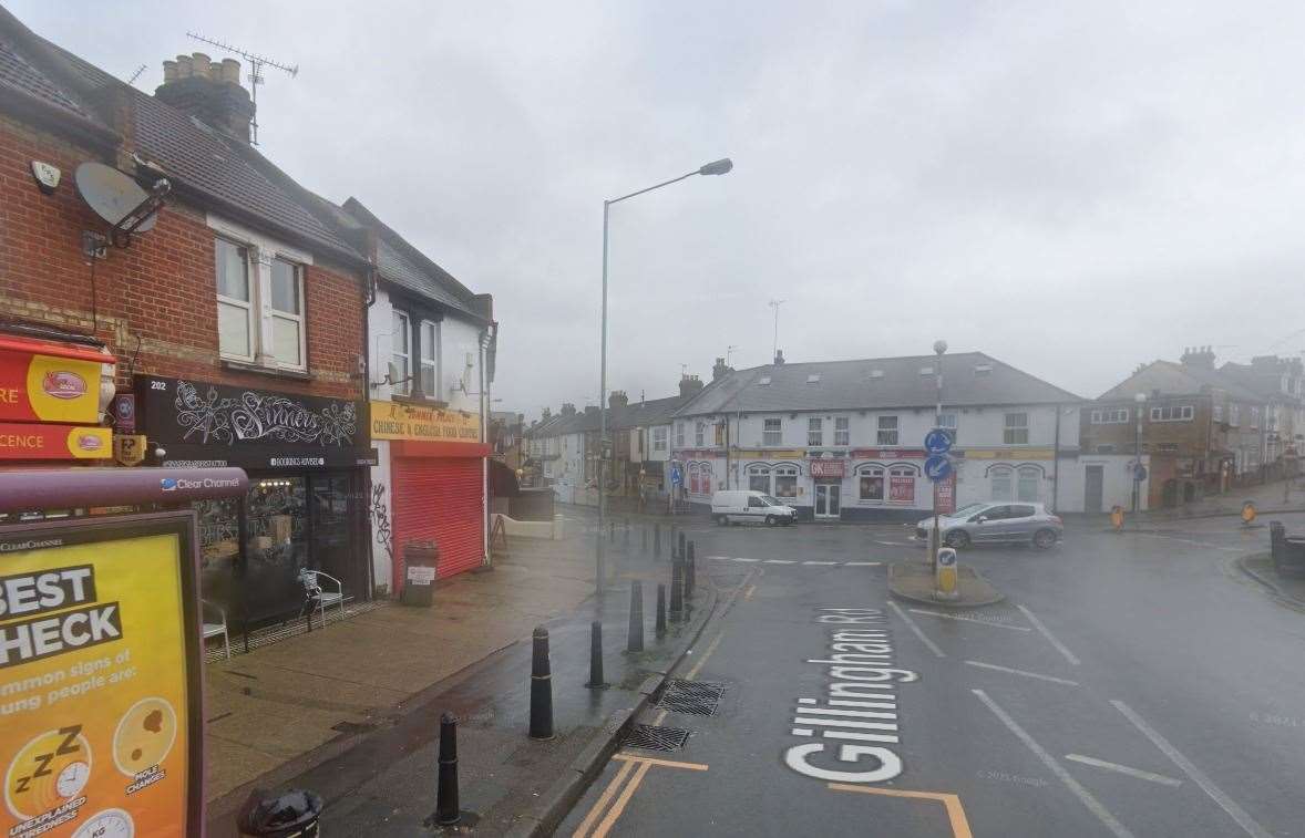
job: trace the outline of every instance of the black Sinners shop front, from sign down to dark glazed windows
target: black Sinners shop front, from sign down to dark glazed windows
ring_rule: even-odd
[[[371,598],[364,403],[151,375],[134,386],[159,465],[249,476],[244,495],[193,504],[206,600],[238,624],[284,619],[304,607],[304,570]]]

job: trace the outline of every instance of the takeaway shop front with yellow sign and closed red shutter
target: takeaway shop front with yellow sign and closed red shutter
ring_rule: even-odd
[[[480,417],[462,411],[402,401],[372,401],[371,433],[381,450],[373,480],[373,516],[388,495],[390,524],[382,550],[389,553],[392,590],[407,573],[410,543],[435,542],[437,576],[445,579],[485,562],[485,459]]]

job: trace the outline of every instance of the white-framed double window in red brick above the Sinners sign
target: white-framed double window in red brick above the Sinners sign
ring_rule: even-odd
[[[284,369],[300,373],[308,371],[308,267],[313,265],[313,257],[305,250],[299,250],[282,241],[270,238],[254,229],[236,224],[217,215],[205,218],[207,227],[217,238],[245,249],[245,278],[249,285],[249,349],[253,354],[241,356],[222,352],[221,340],[218,356],[241,364],[266,366],[268,369]],[[290,314],[271,308],[271,262],[279,259],[290,263],[295,268],[295,278],[299,293],[299,314]],[[214,284],[217,283],[217,262],[214,261]],[[214,298],[245,308],[243,301],[231,300],[214,293]],[[299,358],[300,364],[286,364],[278,361],[273,352],[273,319],[287,319],[299,323]],[[217,325],[214,323],[214,327]]]

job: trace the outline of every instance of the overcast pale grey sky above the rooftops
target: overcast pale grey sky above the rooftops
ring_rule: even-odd
[[[149,91],[188,29],[298,63],[264,152],[493,293],[504,409],[598,395],[603,198],[726,155],[613,207],[632,397],[769,362],[770,298],[790,361],[946,338],[1084,396],[1305,347],[1300,3],[9,8]]]

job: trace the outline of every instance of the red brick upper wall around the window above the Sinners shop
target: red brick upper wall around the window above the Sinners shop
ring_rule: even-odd
[[[84,229],[103,232],[77,195],[73,172],[100,159],[55,134],[0,115],[0,319],[39,321],[97,335],[119,357],[119,384],[136,373],[192,377],[232,386],[322,396],[365,397],[356,375],[363,339],[363,278],[330,263],[305,271],[308,370],[292,381],[223,369],[218,360],[213,233],[198,207],[170,199],[154,229],[107,258],[82,255]],[[63,171],[42,194],[31,160]],[[315,259],[318,257],[315,254]],[[93,302],[98,315],[93,318]]]

